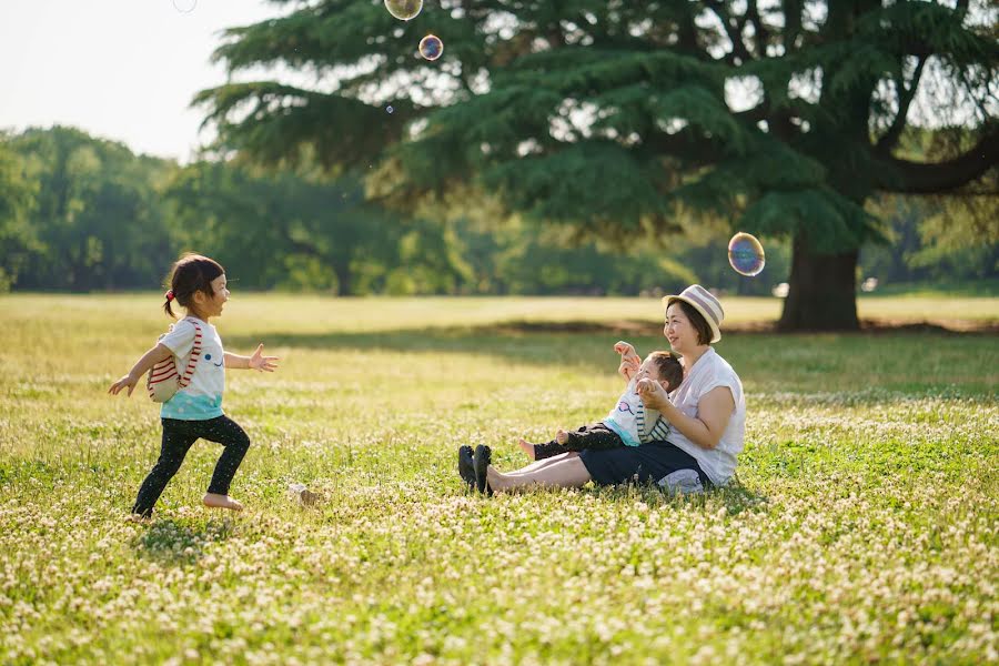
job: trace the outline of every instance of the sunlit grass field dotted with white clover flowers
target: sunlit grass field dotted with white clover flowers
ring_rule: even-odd
[[[460,444],[519,466],[516,437],[620,390],[615,331],[508,323],[655,322],[655,300],[236,292],[226,349],[282,356],[228,373],[248,511],[200,507],[220,452],[202,442],[143,525],[124,517],[155,407],[105,392],[165,327],[159,302],[0,297],[0,663],[999,662],[996,335],[730,334],[737,483],[486,500],[462,491]],[[860,312],[995,324],[999,299]]]

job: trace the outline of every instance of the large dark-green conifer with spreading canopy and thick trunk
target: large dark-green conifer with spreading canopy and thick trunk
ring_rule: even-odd
[[[786,329],[857,326],[871,194],[950,192],[999,155],[986,2],[444,0],[408,22],[375,0],[275,4],[215,54],[274,75],[195,100],[220,149],[370,171],[402,206],[486,191],[602,236],[698,215],[785,234]],[[914,122],[934,151],[907,152]]]

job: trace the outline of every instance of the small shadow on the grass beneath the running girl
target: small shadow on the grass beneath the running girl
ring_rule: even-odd
[[[132,541],[132,546],[141,557],[165,565],[186,566],[201,559],[209,544],[229,538],[233,533],[233,525],[229,518],[208,522],[158,519]]]

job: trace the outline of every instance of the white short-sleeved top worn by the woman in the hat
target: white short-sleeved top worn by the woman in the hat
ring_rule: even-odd
[[[700,398],[718,386],[728,386],[735,401],[735,411],[728,420],[725,432],[722,433],[718,445],[712,450],[702,448],[672,424],[668,441],[694,456],[712,483],[724,485],[735,472],[736,456],[743,451],[746,435],[746,396],[743,394],[739,375],[713,347],[708,347],[689,371],[685,370],[684,381],[669,397],[686,416],[696,418]]]

